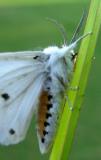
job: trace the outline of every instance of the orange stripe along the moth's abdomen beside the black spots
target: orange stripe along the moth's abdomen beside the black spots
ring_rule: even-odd
[[[47,104],[48,104],[48,92],[42,91],[39,99],[39,110],[38,110],[38,133],[43,137],[44,122],[46,120]]]

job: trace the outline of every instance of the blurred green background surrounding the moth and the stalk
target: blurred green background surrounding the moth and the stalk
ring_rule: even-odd
[[[58,29],[46,17],[64,25],[68,41],[90,0],[0,0],[0,51],[38,50],[61,45]],[[89,76],[70,160],[101,160],[101,32]],[[0,147],[0,160],[48,160],[38,148],[35,120],[26,139]]]

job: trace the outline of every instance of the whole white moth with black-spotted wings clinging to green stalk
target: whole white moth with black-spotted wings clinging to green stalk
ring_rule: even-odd
[[[61,100],[74,69],[78,25],[70,44],[40,51],[0,53],[0,144],[22,141],[33,114],[41,153],[53,143]],[[67,87],[68,89],[68,87]]]

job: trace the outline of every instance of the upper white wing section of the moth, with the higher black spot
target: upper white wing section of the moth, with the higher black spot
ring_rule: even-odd
[[[15,52],[12,58],[8,56],[10,53],[4,54],[4,57],[0,54],[0,108],[11,103],[44,72],[44,64],[33,60],[33,56],[25,59],[26,55],[20,57],[20,54],[19,58],[15,58]]]

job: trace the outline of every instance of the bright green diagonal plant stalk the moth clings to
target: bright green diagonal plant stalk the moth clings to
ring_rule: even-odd
[[[84,33],[92,31],[93,34],[83,39],[80,46],[76,69],[71,82],[72,87],[78,86],[79,89],[77,91],[68,91],[69,101],[72,103],[74,109],[73,111],[70,110],[67,101],[50,155],[50,160],[68,160],[69,158],[100,25],[101,0],[91,0]]]

